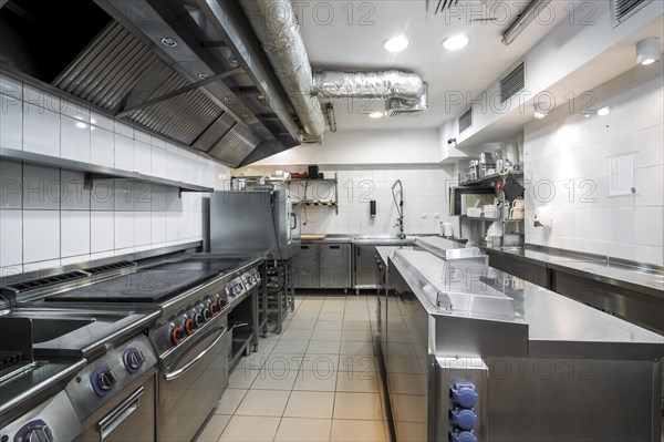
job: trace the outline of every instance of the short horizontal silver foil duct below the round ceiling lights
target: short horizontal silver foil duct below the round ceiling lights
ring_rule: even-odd
[[[401,71],[313,74],[311,92],[322,99],[402,99],[415,102],[425,93],[419,75]]]

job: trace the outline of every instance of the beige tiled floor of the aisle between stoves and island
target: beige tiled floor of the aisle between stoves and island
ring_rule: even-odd
[[[261,339],[231,373],[198,441],[390,441],[374,301],[299,297],[281,336]]]

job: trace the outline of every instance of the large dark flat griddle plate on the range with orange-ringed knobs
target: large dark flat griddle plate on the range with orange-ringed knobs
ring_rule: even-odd
[[[46,297],[46,301],[162,302],[212,277],[217,271],[146,269]]]

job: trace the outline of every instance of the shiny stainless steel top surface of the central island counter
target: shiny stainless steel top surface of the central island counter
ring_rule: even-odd
[[[393,263],[402,275],[408,275],[407,281],[421,304],[430,315],[440,316],[439,320],[452,315],[468,320],[526,322],[528,351],[532,357],[655,360],[664,356],[664,337],[494,268],[488,268],[489,276],[481,281],[473,281],[468,292],[476,298],[468,304],[470,310],[443,313],[435,304],[438,292],[450,289],[443,279],[446,263],[419,250],[401,251]],[[492,311],[490,304],[485,304],[499,298],[487,296],[496,291],[513,300],[508,313]]]

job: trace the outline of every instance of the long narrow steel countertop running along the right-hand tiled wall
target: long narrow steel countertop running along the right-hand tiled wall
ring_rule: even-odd
[[[491,253],[515,255],[561,271],[570,271],[585,278],[594,279],[631,290],[644,292],[664,299],[664,274],[610,263],[605,258],[595,258],[583,255],[547,253],[528,248],[495,248],[484,247]]]

